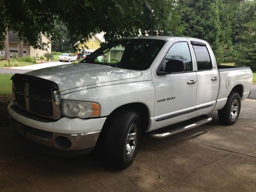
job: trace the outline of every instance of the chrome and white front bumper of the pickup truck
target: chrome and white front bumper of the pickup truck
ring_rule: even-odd
[[[22,111],[15,109],[13,102],[9,104],[8,112],[19,134],[37,143],[67,151],[92,149],[106,119],[63,117],[57,121],[42,122],[24,116]]]

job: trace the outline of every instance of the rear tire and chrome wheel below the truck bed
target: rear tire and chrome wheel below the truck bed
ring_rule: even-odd
[[[225,125],[234,124],[238,120],[240,110],[241,97],[238,93],[231,92],[224,108],[218,111],[219,121]]]

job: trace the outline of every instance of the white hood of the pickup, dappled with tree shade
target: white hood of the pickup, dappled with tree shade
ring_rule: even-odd
[[[140,77],[142,72],[92,63],[78,63],[39,69],[26,74],[54,81],[60,91],[65,91],[97,83],[136,78]]]

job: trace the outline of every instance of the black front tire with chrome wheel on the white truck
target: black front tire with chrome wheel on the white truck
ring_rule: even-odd
[[[129,110],[116,113],[106,133],[106,161],[116,168],[129,166],[135,158],[140,134],[141,122],[137,113]]]

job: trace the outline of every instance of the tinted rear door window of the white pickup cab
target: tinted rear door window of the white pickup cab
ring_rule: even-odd
[[[212,69],[210,55],[206,46],[193,45],[193,48],[196,54],[198,71]]]

